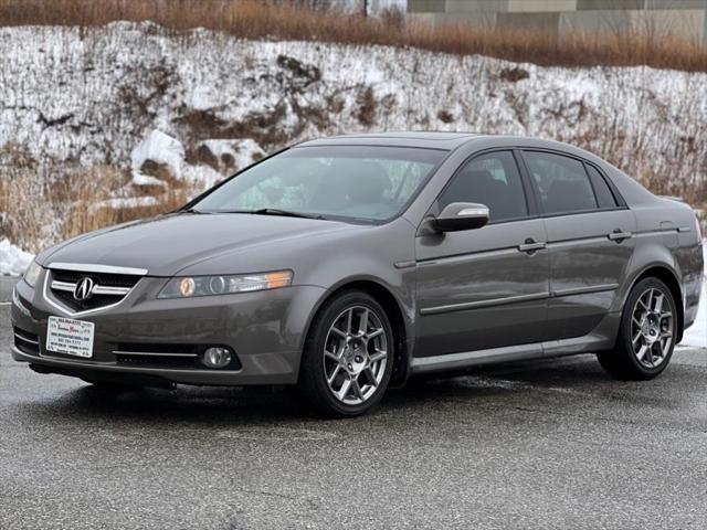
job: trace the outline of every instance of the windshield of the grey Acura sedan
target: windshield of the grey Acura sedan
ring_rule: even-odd
[[[403,210],[445,155],[437,149],[370,146],[288,149],[246,169],[191,208],[384,221]]]

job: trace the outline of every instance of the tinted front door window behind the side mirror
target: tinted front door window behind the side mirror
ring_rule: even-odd
[[[528,215],[518,167],[510,151],[493,152],[467,162],[440,198],[440,209],[452,202],[488,206],[490,221]]]

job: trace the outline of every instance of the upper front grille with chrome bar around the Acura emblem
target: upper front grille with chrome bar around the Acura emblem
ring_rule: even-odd
[[[48,282],[54,299],[67,309],[80,312],[118,304],[137,285],[141,276],[52,269]],[[89,296],[77,299],[76,285],[89,278],[93,289]]]

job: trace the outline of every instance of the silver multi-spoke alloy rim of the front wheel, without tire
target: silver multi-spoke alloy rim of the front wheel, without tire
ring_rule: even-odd
[[[324,344],[324,374],[334,396],[347,405],[370,399],[388,362],[388,338],[379,316],[363,306],[347,308],[334,320]]]

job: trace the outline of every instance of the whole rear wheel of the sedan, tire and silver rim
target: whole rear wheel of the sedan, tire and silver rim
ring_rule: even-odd
[[[667,368],[675,348],[677,311],[667,286],[657,278],[639,282],[626,300],[616,346],[599,362],[618,379],[653,379]]]

